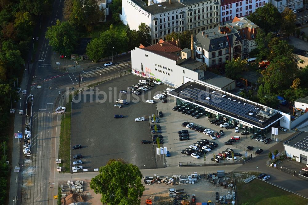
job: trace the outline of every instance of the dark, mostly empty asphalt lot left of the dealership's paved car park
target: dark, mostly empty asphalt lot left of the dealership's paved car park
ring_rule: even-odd
[[[144,78],[125,75],[95,86],[92,91],[83,91],[79,97],[75,97],[80,102],[76,100],[72,103],[71,146],[81,144],[82,148],[71,151],[71,162],[75,161],[73,155],[82,154],[83,168],[88,171],[94,171],[106,165],[110,159],[118,158],[140,169],[160,168],[160,165],[156,165],[156,150],[154,154],[156,145],[141,144],[141,141],[152,140],[149,128],[152,123],[148,121],[148,116],[156,113],[156,104],[145,101],[153,99],[153,95],[168,86],[156,85],[139,96],[132,95],[127,87],[140,79]],[[128,90],[129,93],[120,94],[120,90]],[[117,99],[127,99],[130,103],[122,108],[113,107]],[[165,103],[160,101],[157,104]],[[115,114],[123,115],[124,118],[114,119]],[[134,119],[138,117],[146,117],[147,120],[135,122]]]

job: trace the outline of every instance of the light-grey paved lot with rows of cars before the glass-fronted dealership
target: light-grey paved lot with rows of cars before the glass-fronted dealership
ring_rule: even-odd
[[[249,133],[249,135],[243,136],[241,135],[241,132],[243,130],[239,129],[239,133],[235,133],[234,129],[226,130],[225,128],[220,128],[219,126],[216,126],[215,124],[211,124],[210,120],[213,120],[213,118],[207,118],[206,116],[202,116],[199,119],[194,119],[193,117],[190,117],[189,115],[181,114],[177,111],[172,111],[172,108],[175,106],[175,98],[171,97],[168,101],[168,103],[160,103],[157,104],[158,111],[164,112],[165,122],[161,122],[160,125],[166,127],[165,134],[163,135],[164,138],[167,138],[168,141],[164,141],[164,146],[168,148],[168,151],[170,151],[170,157],[167,157],[167,166],[178,166],[179,162],[193,162],[193,163],[204,163],[204,157],[200,157],[200,159],[194,159],[190,155],[181,154],[182,150],[185,150],[185,148],[189,147],[193,143],[196,143],[200,139],[208,139],[209,141],[214,141],[218,144],[218,147],[210,151],[208,154],[206,154],[206,163],[215,163],[211,161],[211,158],[213,158],[213,153],[215,155],[218,155],[218,153],[225,151],[226,148],[233,149],[234,152],[241,153],[242,157],[237,157],[237,160],[244,157],[245,149],[248,146],[253,146],[254,149],[252,151],[248,151],[248,155],[252,154],[253,157],[255,157],[255,151],[259,148],[265,150],[268,150],[270,147],[272,147],[276,141],[274,140],[274,135],[272,138],[272,142],[269,144],[264,144],[262,142],[256,141],[255,139],[250,139],[250,135],[252,133]],[[213,130],[214,133],[219,132],[219,130],[223,130],[225,132],[224,136],[221,136],[221,138],[218,138],[216,140],[212,140],[209,136],[202,134],[200,132],[191,130],[189,128],[182,127],[181,124],[185,121],[189,121],[191,123],[200,125],[205,128],[209,128],[210,130]],[[178,131],[188,129],[189,132],[189,140],[180,141],[178,136]],[[285,132],[278,131],[278,136],[275,136],[276,138],[279,138],[279,141],[287,137],[288,135],[285,135]],[[232,145],[225,145],[224,142],[231,139],[232,136],[240,136],[240,140],[237,140],[236,143],[233,143]],[[271,134],[268,133],[266,135],[267,138],[271,138]],[[261,153],[261,155],[264,153]],[[224,163],[223,160],[221,160],[220,163]],[[219,164],[219,163],[217,163]]]

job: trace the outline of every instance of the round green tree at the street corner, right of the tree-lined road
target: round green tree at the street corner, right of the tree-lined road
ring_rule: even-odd
[[[55,26],[48,27],[45,35],[52,49],[60,54],[72,54],[77,45],[77,32],[67,21],[57,20]]]

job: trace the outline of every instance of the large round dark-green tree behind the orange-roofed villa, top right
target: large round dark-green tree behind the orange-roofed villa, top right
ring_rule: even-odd
[[[281,25],[281,14],[271,3],[258,7],[255,12],[247,17],[251,22],[262,28],[265,33],[277,32]]]

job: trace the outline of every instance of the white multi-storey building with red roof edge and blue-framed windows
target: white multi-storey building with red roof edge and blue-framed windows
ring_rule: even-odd
[[[256,8],[264,6],[267,2],[267,0],[221,0],[221,24],[223,25],[223,22],[232,20],[234,17],[247,16],[255,12]]]

